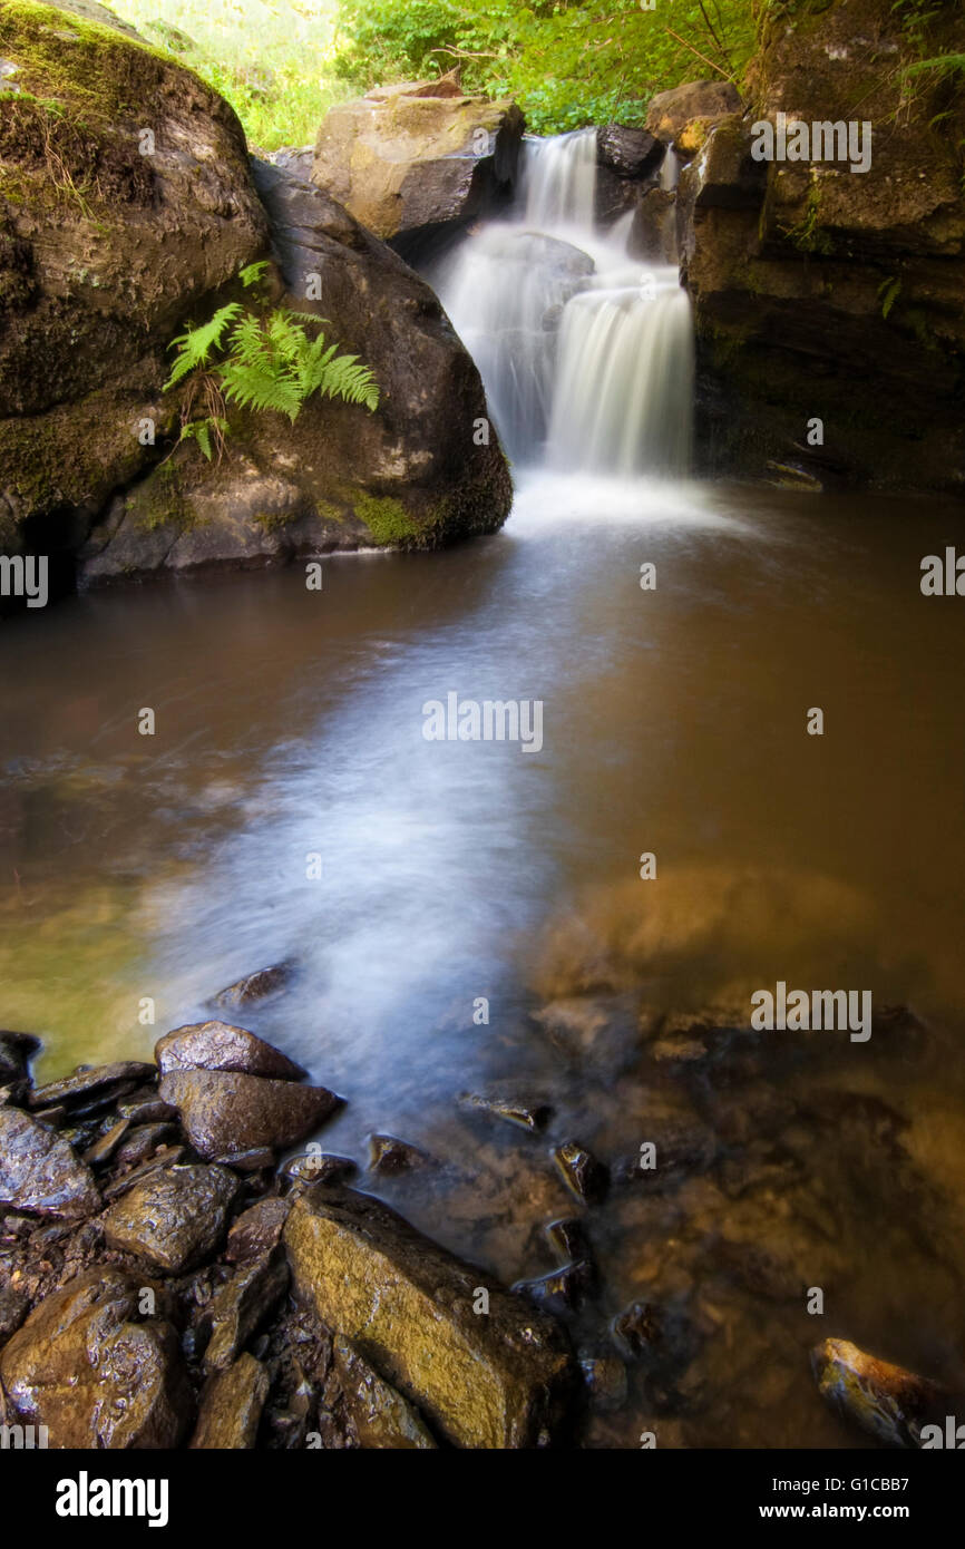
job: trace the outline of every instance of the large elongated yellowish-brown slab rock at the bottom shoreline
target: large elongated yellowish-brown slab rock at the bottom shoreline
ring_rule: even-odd
[[[314,1187],[291,1208],[294,1292],[458,1447],[533,1447],[572,1377],[562,1331],[386,1205]],[[472,1310],[477,1292],[488,1315]]]

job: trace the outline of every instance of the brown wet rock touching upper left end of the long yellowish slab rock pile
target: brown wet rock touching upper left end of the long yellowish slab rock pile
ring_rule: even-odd
[[[180,1275],[217,1248],[237,1190],[239,1180],[228,1168],[160,1168],[110,1207],[104,1238],[113,1248]]]

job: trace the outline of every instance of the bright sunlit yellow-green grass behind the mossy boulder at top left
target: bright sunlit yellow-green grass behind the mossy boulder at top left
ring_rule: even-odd
[[[141,36],[228,98],[252,150],[308,146],[352,96],[331,62],[336,0],[116,0]]]

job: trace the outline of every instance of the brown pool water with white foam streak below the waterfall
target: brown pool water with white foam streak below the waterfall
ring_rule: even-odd
[[[53,1077],[294,959],[246,1022],[349,1098],[325,1146],[431,1151],[378,1191],[510,1281],[551,1267],[539,1225],[573,1208],[551,1143],[618,1163],[689,1114],[714,1160],[587,1211],[601,1292],[575,1323],[606,1343],[652,1300],[686,1355],[589,1437],[852,1444],[816,1340],[965,1386],[965,599],[919,587],[956,542],[936,502],[541,479],[497,538],[333,559],[321,593],[291,570],[5,624],[0,1022],[43,1035]],[[542,700],[542,750],[426,742],[449,691]],[[779,979],[926,1030],[654,1056],[663,1011],[747,1021]],[[469,1118],[466,1087],[556,1117]]]

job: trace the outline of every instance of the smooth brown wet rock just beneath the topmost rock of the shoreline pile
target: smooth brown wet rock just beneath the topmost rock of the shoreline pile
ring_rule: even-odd
[[[232,1156],[260,1146],[293,1146],[341,1104],[324,1086],[296,1086],[228,1070],[169,1070],[161,1097],[173,1103],[195,1151]]]

